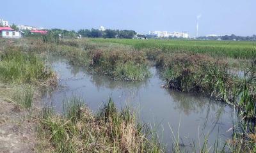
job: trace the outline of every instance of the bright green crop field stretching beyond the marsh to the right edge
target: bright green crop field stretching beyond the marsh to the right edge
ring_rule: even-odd
[[[232,57],[250,59],[255,52],[254,41],[204,41],[204,40],[125,40],[93,38],[97,43],[117,43],[131,45],[136,49],[150,48],[163,52],[193,52],[208,54],[214,57]]]

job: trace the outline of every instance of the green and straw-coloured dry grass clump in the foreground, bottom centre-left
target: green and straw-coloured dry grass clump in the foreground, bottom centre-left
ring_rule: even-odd
[[[136,121],[130,108],[119,112],[109,99],[93,114],[83,104],[72,98],[64,115],[40,119],[40,136],[50,141],[53,152],[163,152],[159,142],[148,139],[149,129]]]

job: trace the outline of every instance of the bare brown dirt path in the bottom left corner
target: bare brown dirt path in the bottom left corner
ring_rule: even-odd
[[[35,152],[35,127],[28,111],[0,98],[0,153]]]

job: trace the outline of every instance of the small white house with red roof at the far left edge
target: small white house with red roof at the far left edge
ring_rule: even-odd
[[[21,38],[22,33],[15,31],[11,27],[0,27],[0,38]]]

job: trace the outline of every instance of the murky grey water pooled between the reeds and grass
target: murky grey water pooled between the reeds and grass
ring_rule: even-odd
[[[152,77],[143,82],[121,82],[109,77],[90,75],[83,68],[70,66],[65,61],[51,62],[60,77],[60,87],[45,101],[52,101],[58,112],[62,102],[71,96],[78,96],[96,112],[111,96],[118,108],[132,106],[142,122],[156,128],[159,138],[170,152],[173,143],[172,131],[180,145],[190,147],[203,145],[209,135],[208,147],[214,147],[217,137],[225,142],[232,136],[233,110],[209,98],[184,94],[161,88],[163,81],[156,68],[151,68]],[[172,128],[172,130],[171,130]]]

